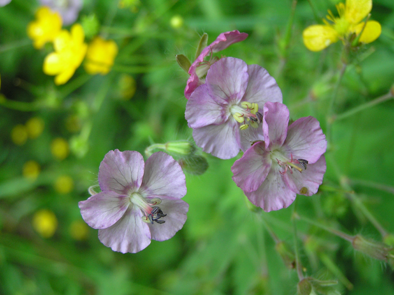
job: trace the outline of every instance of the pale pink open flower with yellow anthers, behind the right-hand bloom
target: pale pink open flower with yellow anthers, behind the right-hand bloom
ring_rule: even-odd
[[[282,102],[275,79],[261,66],[228,57],[208,70],[205,84],[186,104],[185,117],[204,152],[230,159],[240,148],[246,151],[250,140],[264,138],[258,110],[266,101]]]

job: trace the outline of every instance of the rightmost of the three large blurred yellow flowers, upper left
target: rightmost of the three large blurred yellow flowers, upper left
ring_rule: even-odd
[[[112,40],[105,41],[97,36],[88,46],[86,53],[85,70],[89,74],[107,74],[114,64],[118,54],[118,46]]]

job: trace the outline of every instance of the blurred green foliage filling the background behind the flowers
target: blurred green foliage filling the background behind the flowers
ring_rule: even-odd
[[[394,102],[329,124],[343,45],[314,53],[302,43],[302,30],[321,22],[338,1],[299,0],[290,26],[291,0],[135,2],[120,8],[118,1],[84,1],[77,22],[98,22],[100,34],[115,40],[119,54],[109,74],[90,76],[80,67],[63,86],[42,72],[51,45],[35,50],[26,34],[38,2],[12,0],[0,7],[0,294],[296,294],[297,273],[281,260],[270,235],[272,230],[294,251],[295,206],[300,216],[381,241],[352,194],[387,232],[394,231]],[[382,24],[382,35],[354,54],[338,88],[336,115],[393,86],[394,2],[374,0],[372,19]],[[90,26],[96,30],[97,23]],[[155,142],[192,138],[184,119],[188,76],[175,56],[192,60],[202,33],[208,33],[209,44],[231,30],[249,37],[221,54],[266,68],[291,117],[312,115],[329,133],[320,192],[264,213],[232,182],[234,159],[206,155],[206,173],[186,177],[184,200],[190,210],[184,228],[137,254],[113,252],[83,223],[78,201],[97,184],[99,164],[109,150],[143,153]],[[26,126],[31,118],[43,120],[42,133],[31,138],[22,128],[15,144],[15,126]],[[64,159],[51,153],[56,138],[68,143],[61,150]],[[28,161],[38,170],[34,164],[26,168]],[[41,209],[56,216],[50,237],[34,226]],[[317,226],[302,220],[296,225],[305,274],[338,280],[342,294],[394,294],[388,265]]]

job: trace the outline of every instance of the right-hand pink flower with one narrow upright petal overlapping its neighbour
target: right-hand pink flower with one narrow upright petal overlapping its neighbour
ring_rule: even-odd
[[[265,103],[264,141],[254,143],[231,167],[237,186],[267,212],[288,207],[296,194],[315,194],[326,172],[327,140],[319,121],[309,116],[288,124],[286,105]]]

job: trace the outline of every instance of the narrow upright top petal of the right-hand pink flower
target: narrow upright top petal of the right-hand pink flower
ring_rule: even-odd
[[[265,149],[281,146],[286,139],[289,109],[280,102],[266,102],[263,107]]]

